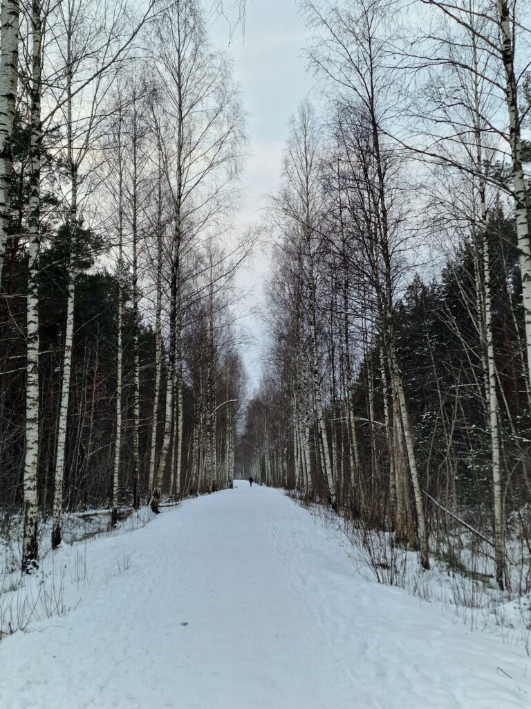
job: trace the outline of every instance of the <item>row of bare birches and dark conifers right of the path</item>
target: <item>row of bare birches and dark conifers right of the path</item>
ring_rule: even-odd
[[[466,532],[528,592],[527,8],[301,5],[323,104],[292,119],[270,198],[270,345],[238,464],[425,568]]]

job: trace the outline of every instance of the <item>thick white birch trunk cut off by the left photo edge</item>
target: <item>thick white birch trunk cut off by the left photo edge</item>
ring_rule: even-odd
[[[13,121],[15,120],[16,90],[18,82],[18,30],[20,3],[18,0],[2,0],[1,50],[0,50],[0,289],[8,235],[11,207],[11,174],[13,172]],[[39,17],[38,27],[35,16]],[[40,2],[33,3],[33,74],[35,70],[35,41],[40,45]],[[40,68],[39,68],[40,73]],[[33,81],[35,76],[33,76]],[[40,79],[39,79],[40,82]],[[40,89],[38,89],[40,91]],[[33,86],[35,91],[35,86]],[[32,97],[32,112],[34,110]],[[40,102],[39,102],[40,123]],[[40,150],[40,148],[39,148]],[[31,179],[31,177],[30,177]],[[35,177],[33,176],[33,179]]]

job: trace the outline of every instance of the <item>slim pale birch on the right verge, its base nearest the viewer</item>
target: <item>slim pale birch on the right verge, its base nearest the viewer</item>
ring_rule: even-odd
[[[445,64],[440,69],[444,82],[431,79],[423,93],[432,108],[426,121],[427,127],[433,130],[434,136],[443,133],[438,140],[437,152],[438,162],[442,165],[442,172],[447,178],[441,191],[445,191],[446,194],[450,191],[445,211],[447,214],[455,213],[454,230],[457,233],[459,233],[459,225],[463,223],[463,212],[466,213],[471,232],[469,242],[474,252],[476,291],[472,323],[483,347],[481,365],[491,439],[496,581],[503,588],[505,552],[501,493],[501,439],[488,236],[489,201],[499,194],[498,189],[489,180],[498,156],[498,135],[493,130],[493,125],[499,101],[491,90],[491,84],[496,79],[496,61],[491,52],[491,45],[495,38],[491,35],[492,26],[489,26],[488,19],[481,15],[475,4],[471,4],[468,9],[464,8],[459,13],[459,18],[463,24],[457,26],[457,32],[455,26],[446,21],[437,34],[438,61],[444,60]],[[461,97],[458,103],[455,102],[457,94]],[[442,131],[439,126],[443,126]],[[455,183],[452,182],[452,173],[459,175]],[[453,189],[452,184],[455,184]],[[463,194],[459,206],[451,196],[455,189],[462,191]],[[465,197],[467,192],[468,200]],[[445,201],[444,197],[440,203],[443,201]]]

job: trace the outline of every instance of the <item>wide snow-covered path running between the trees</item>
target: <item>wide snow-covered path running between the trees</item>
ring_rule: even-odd
[[[0,642],[0,708],[531,707],[522,649],[364,581],[280,491],[237,485],[87,544],[86,588],[62,549],[81,601]]]

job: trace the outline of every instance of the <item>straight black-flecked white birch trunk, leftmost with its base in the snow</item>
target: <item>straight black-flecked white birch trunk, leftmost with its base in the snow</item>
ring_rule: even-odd
[[[15,4],[13,3],[13,6]],[[13,10],[14,12],[14,10]],[[16,6],[16,26],[18,37],[18,4]],[[40,150],[42,128],[40,121],[40,44],[42,38],[40,0],[33,1],[33,66],[31,80],[31,135],[30,135],[30,198],[28,213],[29,259],[28,259],[28,297],[27,317],[27,359],[26,359],[26,396],[25,396],[25,457],[24,457],[24,532],[22,546],[22,571],[30,573],[38,567],[38,493],[37,466],[39,457],[39,314],[38,314],[38,274],[40,254]],[[5,21],[14,22],[14,18],[4,18],[2,5],[2,65],[4,65],[4,36],[6,41],[12,35],[4,27]],[[7,51],[7,50],[6,50]],[[2,66],[4,69],[4,66]],[[15,84],[16,86],[16,84]],[[14,102],[14,96],[13,96]],[[0,118],[4,120],[6,114]],[[4,143],[5,145],[5,143]],[[9,148],[11,151],[11,148]],[[10,152],[11,155],[11,152]],[[5,159],[0,162],[4,163]],[[5,184],[5,183],[4,183]],[[0,187],[0,189],[2,189]],[[1,199],[1,195],[0,195]],[[5,202],[4,202],[5,207]],[[1,219],[1,216],[0,216]],[[1,228],[1,227],[0,227]]]

